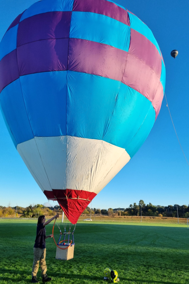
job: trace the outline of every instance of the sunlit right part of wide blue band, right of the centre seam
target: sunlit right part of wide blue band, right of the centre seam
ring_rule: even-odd
[[[67,135],[128,147],[133,156],[154,121],[151,102],[134,89],[109,78],[68,71]]]

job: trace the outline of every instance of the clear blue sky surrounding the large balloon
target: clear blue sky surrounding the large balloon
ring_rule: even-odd
[[[0,40],[18,14],[35,0],[0,1]],[[181,145],[189,160],[189,2],[188,0],[117,0],[139,17],[153,32],[166,67],[169,108]],[[170,56],[177,49],[176,59]],[[0,113],[0,205],[28,206],[45,203],[6,129]],[[95,197],[92,207],[128,207],[143,199],[155,205],[189,203],[189,166],[182,154],[166,107],[161,111],[148,138],[138,153]],[[51,202],[53,204],[53,202]],[[55,205],[55,204],[54,204]]]

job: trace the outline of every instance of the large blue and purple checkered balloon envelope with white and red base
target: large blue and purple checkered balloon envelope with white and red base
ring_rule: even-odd
[[[107,0],[42,0],[0,44],[0,105],[47,199],[75,224],[146,140],[165,65],[151,30]]]

